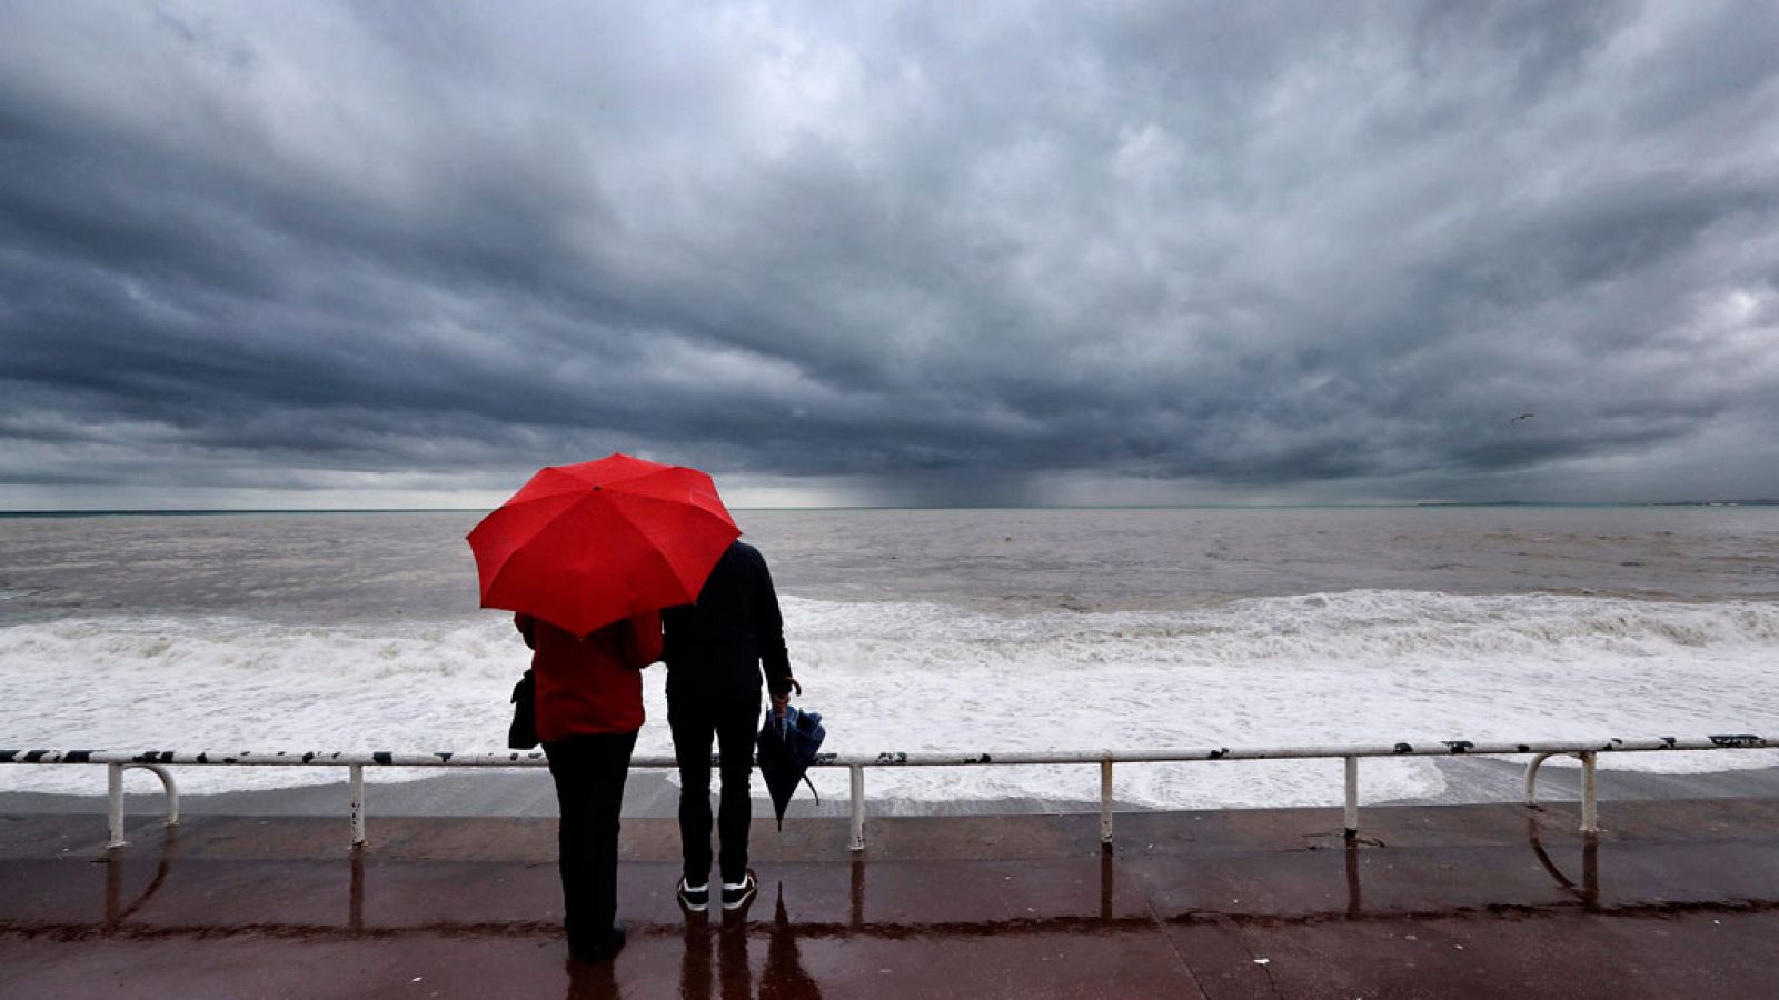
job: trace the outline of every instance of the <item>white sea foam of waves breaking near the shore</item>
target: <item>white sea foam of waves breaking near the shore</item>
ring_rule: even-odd
[[[1779,605],[1347,591],[1169,614],[994,616],[785,600],[829,749],[1035,751],[1779,730]],[[301,628],[87,617],[0,628],[0,746],[498,749],[525,665],[511,625]],[[667,754],[660,667],[637,753]],[[1779,763],[1767,751],[1626,754],[1612,769]],[[1149,806],[1329,804],[1336,762],[1124,765]],[[5,767],[5,788],[85,792],[91,769]],[[423,772],[372,769],[374,779]],[[192,792],[340,779],[185,769]],[[873,799],[1092,799],[1092,767],[877,769]],[[841,772],[817,778],[845,794]],[[1368,763],[1368,799],[1437,794],[1425,760]]]

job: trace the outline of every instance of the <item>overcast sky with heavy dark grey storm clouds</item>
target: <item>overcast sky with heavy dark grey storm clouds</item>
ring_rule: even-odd
[[[0,507],[612,450],[737,505],[1779,496],[1775,53],[1768,2],[0,0]]]

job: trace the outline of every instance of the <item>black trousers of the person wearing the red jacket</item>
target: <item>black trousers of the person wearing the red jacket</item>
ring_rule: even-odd
[[[544,742],[562,824],[562,923],[571,950],[596,948],[617,916],[617,813],[637,733],[589,733]]]

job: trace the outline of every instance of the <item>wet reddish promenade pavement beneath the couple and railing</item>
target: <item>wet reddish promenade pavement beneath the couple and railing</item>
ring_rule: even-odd
[[[687,916],[624,822],[616,963],[566,963],[555,824],[0,817],[0,996],[1774,996],[1779,802],[756,824]]]

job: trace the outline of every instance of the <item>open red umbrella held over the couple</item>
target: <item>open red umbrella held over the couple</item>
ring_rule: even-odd
[[[607,456],[539,470],[475,525],[470,550],[482,607],[587,635],[696,601],[740,534],[703,472]]]

